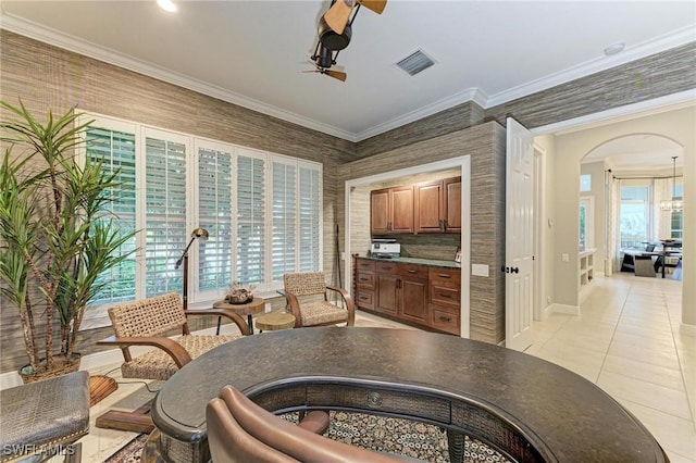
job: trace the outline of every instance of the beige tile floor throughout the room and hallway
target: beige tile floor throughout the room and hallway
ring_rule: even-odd
[[[534,345],[527,353],[597,384],[652,433],[672,462],[696,463],[696,338],[679,333],[681,281],[619,274],[596,278],[593,286],[581,315],[551,314],[534,323]],[[357,321],[363,326],[403,327],[363,312]],[[105,410],[135,409],[147,397],[142,383],[121,378],[117,365],[90,373],[114,368],[109,375],[127,384],[121,383],[90,410],[83,462],[103,462],[136,436],[94,425]],[[157,389],[160,383],[149,386]],[[134,393],[135,401],[124,403]]]

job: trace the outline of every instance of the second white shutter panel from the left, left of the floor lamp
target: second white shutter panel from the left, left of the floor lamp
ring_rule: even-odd
[[[149,130],[145,137],[146,296],[183,289],[176,260],[188,243],[184,137]]]

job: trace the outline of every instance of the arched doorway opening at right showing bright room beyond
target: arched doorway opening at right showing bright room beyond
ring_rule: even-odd
[[[610,276],[624,252],[652,251],[664,239],[681,246],[683,211],[661,203],[683,198],[683,161],[680,143],[654,133],[612,138],[581,160],[581,247],[596,249],[598,272]]]

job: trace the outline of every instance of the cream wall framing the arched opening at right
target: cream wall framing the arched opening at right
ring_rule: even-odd
[[[682,272],[682,323],[696,333],[696,108],[635,117],[577,130],[556,137],[556,168],[547,171],[555,185],[555,256],[554,295],[558,303],[579,305],[577,227],[580,207],[580,161],[599,145],[633,134],[652,134],[668,137],[684,149],[684,268]],[[556,185],[559,187],[556,189]],[[562,187],[561,187],[562,186]],[[561,254],[570,255],[561,262]],[[692,326],[693,325],[693,326]]]

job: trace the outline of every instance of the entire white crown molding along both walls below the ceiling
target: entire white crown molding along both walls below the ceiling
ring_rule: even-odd
[[[493,108],[507,103],[508,101],[549,89],[557,85],[585,77],[600,71],[606,71],[696,40],[696,33],[694,32],[694,28],[684,27],[658,37],[657,39],[648,40],[633,47],[627,47],[626,50],[619,54],[612,57],[600,57],[527,84],[501,91],[490,97],[478,88],[469,88],[378,124],[370,129],[362,130],[360,133],[351,133],[333,125],[324,124],[309,117],[285,111],[281,108],[263,103],[243,95],[225,90],[219,86],[213,86],[186,75],[172,72],[164,67],[152,65],[151,63],[134,59],[133,57],[124,53],[119,53],[114,50],[96,46],[91,42],[87,42],[67,34],[59,33],[54,29],[47,28],[12,14],[3,13],[0,15],[0,28],[352,142],[374,137],[468,101],[473,101],[483,109]]]

